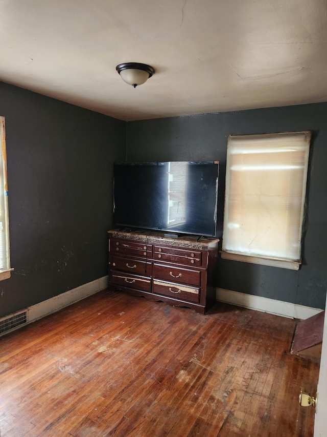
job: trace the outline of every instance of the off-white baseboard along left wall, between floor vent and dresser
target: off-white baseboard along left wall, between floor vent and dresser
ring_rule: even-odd
[[[62,293],[61,295],[54,296],[51,299],[32,305],[27,308],[28,323],[34,322],[35,320],[41,319],[49,314],[56,313],[59,309],[78,302],[87,296],[100,292],[100,290],[105,289],[107,286],[108,276],[103,276],[95,281],[73,288],[66,293]]]

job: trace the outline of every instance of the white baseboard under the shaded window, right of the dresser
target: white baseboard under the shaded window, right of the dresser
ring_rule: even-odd
[[[247,295],[245,293],[225,290],[224,288],[216,289],[216,300],[243,306],[244,308],[255,309],[264,313],[275,314],[276,316],[300,320],[309,319],[309,317],[315,316],[322,311],[319,308],[311,308],[310,306],[297,305],[261,296]]]

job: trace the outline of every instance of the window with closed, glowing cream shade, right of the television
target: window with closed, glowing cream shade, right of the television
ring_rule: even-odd
[[[222,258],[299,268],[310,139],[228,137]]]

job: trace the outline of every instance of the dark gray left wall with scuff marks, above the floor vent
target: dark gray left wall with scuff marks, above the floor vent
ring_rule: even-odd
[[[0,83],[12,277],[0,316],[107,275],[112,163],[126,123]]]

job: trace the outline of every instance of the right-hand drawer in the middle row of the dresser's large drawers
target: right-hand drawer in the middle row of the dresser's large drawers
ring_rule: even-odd
[[[191,270],[188,268],[153,264],[153,279],[163,279],[164,281],[200,286],[201,272],[195,269]]]

